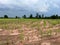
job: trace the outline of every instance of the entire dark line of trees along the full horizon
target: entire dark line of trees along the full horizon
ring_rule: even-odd
[[[8,17],[8,15],[4,15],[4,17],[0,17],[0,18],[24,18],[24,19],[60,19],[60,16],[58,16],[58,14],[52,15],[52,16],[44,16],[44,14],[40,15],[38,13],[36,13],[36,16],[33,16],[33,14],[30,14],[29,17],[27,17],[26,15],[23,15],[22,17]]]

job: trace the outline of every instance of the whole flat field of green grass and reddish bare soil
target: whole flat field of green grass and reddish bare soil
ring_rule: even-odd
[[[0,19],[0,36],[0,45],[59,45],[60,19]]]

